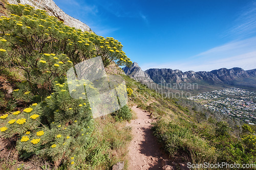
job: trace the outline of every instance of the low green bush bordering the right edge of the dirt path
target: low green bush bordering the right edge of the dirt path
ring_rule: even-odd
[[[210,147],[206,140],[178,123],[166,123],[160,119],[154,125],[153,131],[154,135],[164,144],[164,149],[169,155],[175,156],[179,151],[184,151],[195,163],[216,161],[215,149]]]

